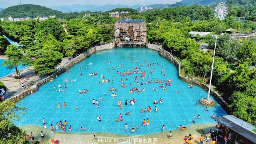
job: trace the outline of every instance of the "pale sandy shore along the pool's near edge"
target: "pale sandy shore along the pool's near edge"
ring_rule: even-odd
[[[204,130],[204,132],[208,132],[209,129],[214,129],[216,124],[214,123],[205,123],[205,124],[193,124],[190,126],[186,126],[185,131],[181,131],[179,129],[172,130],[172,139],[169,140],[168,134],[170,131],[166,131],[164,133],[156,133],[156,134],[146,134],[146,135],[121,135],[121,134],[112,134],[107,132],[86,132],[84,130],[81,133],[71,133],[66,132],[63,133],[55,132],[55,134],[50,134],[49,128],[44,130],[42,126],[35,125],[26,125],[19,126],[23,130],[26,130],[27,134],[33,132],[35,135],[34,142],[38,140],[41,144],[51,144],[50,140],[54,137],[54,140],[59,140],[60,144],[116,144],[117,142],[132,142],[132,144],[184,144],[183,138],[192,134],[194,139],[192,140],[192,144],[200,144],[198,139],[201,136],[201,133],[196,130],[196,128],[200,128]],[[45,137],[42,139],[40,136],[40,131],[43,131]],[[96,135],[96,140],[93,140],[93,135]],[[136,132],[135,132],[136,134]],[[205,134],[203,134],[205,136]],[[30,141],[30,140],[29,140]],[[134,142],[135,141],[135,142]],[[30,144],[34,144],[30,141]]]

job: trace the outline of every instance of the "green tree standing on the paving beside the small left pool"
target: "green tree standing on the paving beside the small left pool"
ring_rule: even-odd
[[[4,60],[2,66],[6,66],[6,68],[9,70],[15,69],[16,75],[18,75],[17,66],[26,64],[26,56],[23,55],[20,48],[13,44],[7,47],[5,54],[8,59]]]

